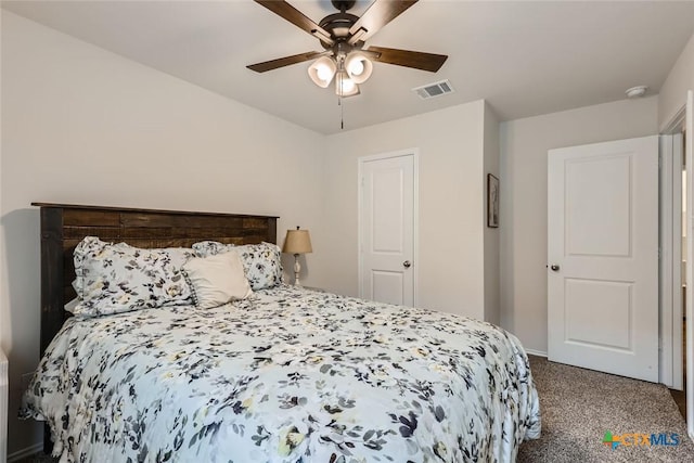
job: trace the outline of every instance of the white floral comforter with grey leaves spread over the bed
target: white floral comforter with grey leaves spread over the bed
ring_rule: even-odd
[[[61,462],[513,462],[540,434],[513,335],[291,286],[70,319],[21,414]]]

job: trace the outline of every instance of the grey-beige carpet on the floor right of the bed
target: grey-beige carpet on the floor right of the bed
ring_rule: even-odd
[[[540,396],[542,437],[520,446],[518,462],[694,462],[694,443],[668,389],[530,357]],[[613,435],[672,433],[678,446],[604,445]],[[629,440],[629,439],[628,439]],[[672,443],[669,437],[668,442]]]

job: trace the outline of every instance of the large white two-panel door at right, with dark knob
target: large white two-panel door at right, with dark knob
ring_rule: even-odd
[[[550,150],[548,357],[658,381],[658,137]]]

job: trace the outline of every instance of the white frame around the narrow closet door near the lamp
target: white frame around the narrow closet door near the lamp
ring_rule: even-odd
[[[359,279],[359,297],[363,298],[363,236],[362,236],[362,201],[363,201],[363,169],[364,164],[373,160],[390,159],[394,157],[412,156],[412,171],[413,171],[413,197],[414,204],[412,210],[412,247],[413,247],[413,261],[412,268],[412,306],[417,307],[417,275],[420,267],[420,150],[411,147],[407,150],[391,151],[387,153],[373,154],[369,156],[361,156],[357,158],[357,276]]]

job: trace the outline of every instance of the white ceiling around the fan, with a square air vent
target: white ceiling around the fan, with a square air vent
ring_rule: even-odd
[[[327,0],[291,0],[314,22]],[[358,0],[360,15],[371,1]],[[2,7],[87,42],[299,126],[340,130],[332,88],[308,63],[257,74],[247,64],[307,51],[317,39],[250,0],[2,1]],[[345,129],[487,100],[501,120],[657,93],[694,34],[694,1],[421,0],[367,44],[447,54],[436,73],[374,64],[361,94],[344,100]],[[449,79],[455,92],[421,100],[412,88]]]

